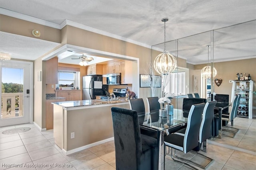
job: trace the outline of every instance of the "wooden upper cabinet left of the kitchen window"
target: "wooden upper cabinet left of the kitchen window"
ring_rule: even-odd
[[[58,84],[58,57],[46,61],[46,84]]]

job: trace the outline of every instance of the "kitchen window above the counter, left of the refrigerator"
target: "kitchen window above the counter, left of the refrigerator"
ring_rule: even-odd
[[[80,72],[78,71],[58,71],[59,87],[72,89],[80,86]]]

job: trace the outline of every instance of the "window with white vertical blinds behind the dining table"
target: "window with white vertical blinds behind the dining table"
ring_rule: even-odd
[[[174,72],[167,76],[167,85],[164,91],[166,93],[175,93],[177,96],[186,94],[185,91],[185,72]]]

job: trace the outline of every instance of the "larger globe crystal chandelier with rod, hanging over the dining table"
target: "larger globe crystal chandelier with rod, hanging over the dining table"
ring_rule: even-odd
[[[161,75],[168,75],[176,68],[177,62],[173,55],[166,53],[165,49],[165,22],[168,21],[168,18],[162,18],[164,22],[164,53],[158,55],[154,60],[154,68],[156,72]]]

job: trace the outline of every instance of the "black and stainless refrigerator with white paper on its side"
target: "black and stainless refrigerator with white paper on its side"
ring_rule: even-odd
[[[100,84],[102,84],[102,75],[83,76],[82,77],[83,100],[96,99],[95,96],[106,95],[106,91],[108,90],[108,85],[100,86]]]

